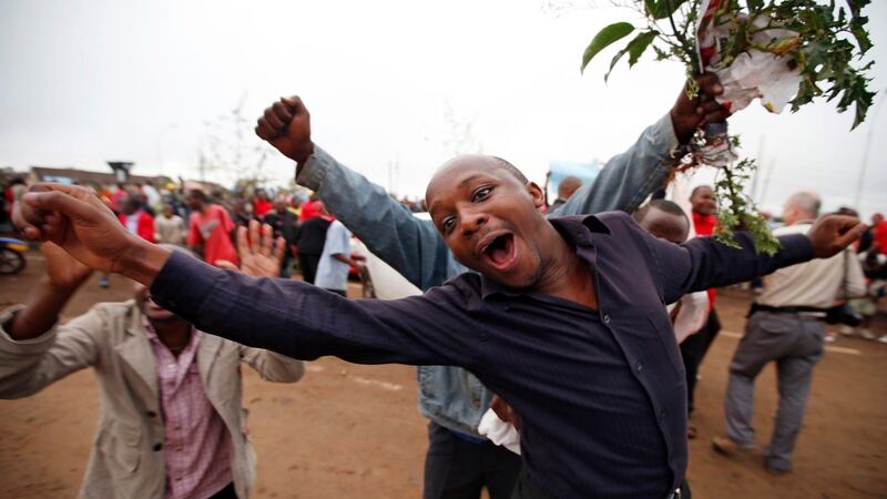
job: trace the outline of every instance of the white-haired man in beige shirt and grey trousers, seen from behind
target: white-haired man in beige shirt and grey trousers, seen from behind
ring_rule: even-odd
[[[792,195],[783,211],[785,226],[774,235],[806,234],[819,215],[819,205],[815,193]],[[712,440],[715,450],[724,455],[754,451],[755,377],[767,363],[775,361],[779,406],[771,444],[764,450],[764,466],[774,475],[791,470],[813,366],[823,356],[826,310],[842,292],[863,294],[864,284],[863,271],[850,248],[764,277],[764,292],[752,304],[745,335],[730,364],[724,400],[727,436]]]

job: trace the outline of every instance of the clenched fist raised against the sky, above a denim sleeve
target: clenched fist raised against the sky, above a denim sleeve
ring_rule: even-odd
[[[302,99],[281,98],[258,119],[256,135],[296,163],[304,163],[314,153],[312,119]]]

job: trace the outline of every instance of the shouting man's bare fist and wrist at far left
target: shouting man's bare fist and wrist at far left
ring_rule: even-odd
[[[17,203],[12,222],[31,241],[49,241],[86,266],[150,285],[170,256],[126,232],[88,189],[40,183]]]

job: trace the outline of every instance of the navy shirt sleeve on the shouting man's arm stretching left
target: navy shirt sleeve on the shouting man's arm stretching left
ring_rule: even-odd
[[[292,279],[254,278],[173,253],[152,298],[215,334],[294,358],[470,365],[480,342],[455,286],[396,301],[347,299]]]

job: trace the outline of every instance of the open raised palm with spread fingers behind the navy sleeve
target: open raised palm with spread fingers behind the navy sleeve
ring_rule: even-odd
[[[274,230],[265,224],[261,227],[257,221],[249,221],[249,238],[246,227],[237,227],[237,254],[241,257],[239,271],[253,277],[277,277],[281,275],[281,261],[286,251],[286,241],[277,237]],[[252,242],[252,246],[251,243]],[[237,271],[237,266],[224,259],[215,263],[222,268]]]

